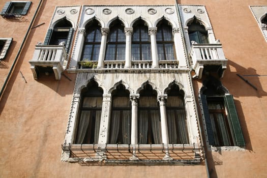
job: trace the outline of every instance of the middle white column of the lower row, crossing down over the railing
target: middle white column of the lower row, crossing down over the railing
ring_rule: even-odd
[[[130,95],[130,100],[132,102],[132,123],[131,123],[131,144],[138,143],[138,123],[137,123],[137,107],[138,107],[138,99],[139,94]],[[138,159],[136,157],[135,146],[133,147],[133,156],[130,158],[131,160]]]

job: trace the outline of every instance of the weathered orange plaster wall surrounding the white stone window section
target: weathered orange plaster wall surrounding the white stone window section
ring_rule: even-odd
[[[1,37],[12,37],[12,46],[0,66],[1,86],[15,58],[39,1],[33,0],[28,15],[21,20],[0,17]],[[205,177],[204,164],[191,166],[81,166],[61,162],[76,74],[65,73],[55,81],[53,75],[34,80],[29,68],[35,45],[43,41],[55,6],[107,5],[107,1],[43,1],[34,28],[29,33],[16,68],[0,102],[1,177]],[[116,5],[174,4],[174,1],[116,1]],[[266,177],[265,127],[267,108],[267,44],[249,5],[265,1],[179,1],[205,5],[217,39],[223,44],[228,66],[223,85],[234,96],[247,151],[207,152],[212,177]],[[3,7],[4,1],[0,2]],[[21,77],[21,71],[27,82]],[[243,75],[257,91],[241,80]],[[194,80],[195,95],[202,86]]]

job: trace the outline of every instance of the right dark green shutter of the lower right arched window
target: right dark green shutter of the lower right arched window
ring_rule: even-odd
[[[238,114],[236,113],[233,96],[232,95],[225,95],[225,103],[227,106],[228,117],[230,118],[232,129],[236,141],[236,145],[238,146],[245,146],[245,140],[242,134],[242,130],[239,123]]]

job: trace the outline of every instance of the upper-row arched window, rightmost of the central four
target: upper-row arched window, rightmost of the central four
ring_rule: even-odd
[[[175,60],[172,27],[167,20],[162,20],[157,25],[157,49],[159,60]]]

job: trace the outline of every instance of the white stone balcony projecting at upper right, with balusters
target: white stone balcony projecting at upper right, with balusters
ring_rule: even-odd
[[[192,67],[199,79],[202,78],[203,69],[216,71],[220,78],[223,77],[228,60],[224,56],[222,44],[197,44],[194,42],[191,46],[190,56]]]

